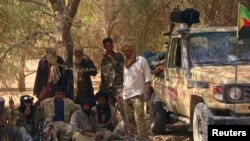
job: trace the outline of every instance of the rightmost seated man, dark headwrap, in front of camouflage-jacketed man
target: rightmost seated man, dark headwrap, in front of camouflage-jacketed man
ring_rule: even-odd
[[[99,91],[95,95],[97,105],[92,108],[95,111],[95,120],[108,131],[121,133],[122,120],[117,108],[109,105],[108,94]]]

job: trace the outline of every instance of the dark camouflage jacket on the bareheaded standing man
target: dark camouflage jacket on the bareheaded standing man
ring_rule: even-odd
[[[122,88],[123,65],[122,54],[114,53],[112,59],[108,54],[104,54],[101,61],[101,90],[117,92],[118,89]]]

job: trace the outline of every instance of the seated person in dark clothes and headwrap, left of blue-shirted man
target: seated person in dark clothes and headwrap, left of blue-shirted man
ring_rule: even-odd
[[[20,106],[15,110],[16,125],[18,127],[24,127],[34,140],[38,140],[37,129],[39,114],[37,113],[37,107],[33,105],[33,100],[34,98],[29,95],[21,96]]]

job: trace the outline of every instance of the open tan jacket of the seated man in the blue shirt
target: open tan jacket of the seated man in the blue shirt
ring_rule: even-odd
[[[40,103],[40,114],[49,125],[53,125],[53,118],[55,116],[55,98],[48,98]],[[69,123],[72,113],[81,109],[80,105],[75,104],[72,100],[64,98],[64,122]]]

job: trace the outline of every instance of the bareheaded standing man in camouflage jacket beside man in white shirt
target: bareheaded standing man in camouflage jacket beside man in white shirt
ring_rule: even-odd
[[[123,85],[123,56],[116,53],[113,49],[113,40],[105,38],[103,46],[106,50],[101,62],[101,86],[100,89],[109,96],[109,104],[115,105],[116,94]]]

